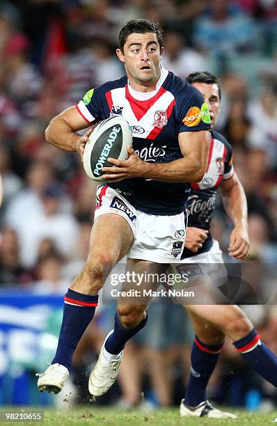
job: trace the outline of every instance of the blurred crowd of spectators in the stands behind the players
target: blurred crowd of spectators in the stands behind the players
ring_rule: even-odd
[[[232,144],[248,198],[251,260],[277,265],[276,0],[2,0],[0,288],[20,285],[63,294],[83,265],[96,184],[86,178],[77,154],[45,143],[44,131],[53,116],[79,102],[88,89],[122,76],[124,69],[115,55],[118,31],[127,20],[139,17],[164,28],[166,68],[184,78],[197,70],[221,77],[217,130]],[[227,253],[231,224],[220,200],[218,204],[212,232]],[[95,322],[92,334],[97,337],[88,339],[95,345],[84,345],[77,354],[77,368],[87,360],[88,348],[99,350],[109,331],[104,325],[112,317],[109,308],[103,306]],[[129,345],[131,361],[126,354],[121,373],[126,404],[140,401],[142,359],[148,360],[143,365],[155,402],[173,403],[174,386],[168,383],[177,379],[183,383],[187,377],[193,338],[179,308],[171,306],[172,333],[162,320],[168,307],[151,308],[160,310],[160,322],[155,324],[160,328],[149,329],[143,344]],[[277,312],[272,306],[255,308],[251,319],[277,352]],[[180,324],[184,332],[176,333]],[[168,332],[171,338],[160,338]],[[244,368],[231,347],[225,349],[223,360],[213,384],[217,395],[223,395],[221,379],[230,370],[225,365],[235,371]],[[126,379],[130,371],[132,383]],[[163,371],[166,374],[160,374]],[[256,389],[253,375],[249,380],[250,388]],[[234,393],[225,401],[236,404],[232,397]]]

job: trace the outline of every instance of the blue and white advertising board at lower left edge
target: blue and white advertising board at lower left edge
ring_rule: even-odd
[[[49,403],[35,372],[52,361],[62,310],[61,295],[0,291],[0,405]]]

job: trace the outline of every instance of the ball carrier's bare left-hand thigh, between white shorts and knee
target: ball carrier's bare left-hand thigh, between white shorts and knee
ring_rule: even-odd
[[[91,230],[88,250],[88,262],[102,258],[115,265],[134,241],[134,234],[129,223],[118,214],[102,214]]]

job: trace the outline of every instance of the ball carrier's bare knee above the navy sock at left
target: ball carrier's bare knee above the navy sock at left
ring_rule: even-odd
[[[98,291],[104,285],[112,267],[113,261],[109,255],[94,258],[84,265],[80,274],[81,281],[86,283],[92,290]]]

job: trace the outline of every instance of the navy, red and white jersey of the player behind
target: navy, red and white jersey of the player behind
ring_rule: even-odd
[[[188,226],[209,230],[212,214],[216,207],[216,190],[222,180],[232,178],[232,147],[219,133],[212,130],[212,141],[209,146],[207,171],[201,182],[191,184],[187,210],[189,211]],[[184,248],[182,259],[208,251],[212,246],[212,235],[209,233],[196,253]]]

